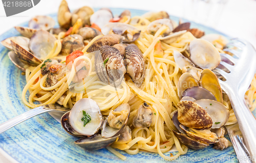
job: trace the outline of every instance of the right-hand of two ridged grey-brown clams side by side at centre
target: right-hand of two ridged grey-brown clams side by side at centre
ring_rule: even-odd
[[[145,78],[145,60],[142,52],[135,44],[125,47],[125,65],[129,74],[137,87],[142,85]]]

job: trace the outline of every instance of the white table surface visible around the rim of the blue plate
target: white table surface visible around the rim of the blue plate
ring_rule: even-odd
[[[71,10],[81,6],[134,8],[151,11],[166,11],[170,15],[184,17],[189,15],[187,3],[197,0],[167,0],[167,1],[118,1],[118,0],[67,0]],[[61,0],[44,0],[33,8],[22,13],[6,17],[4,7],[0,5],[0,35],[13,28],[13,26],[29,21],[35,15],[56,13]],[[256,47],[256,1],[255,0],[230,0],[226,3],[218,24],[214,28],[231,37],[239,37],[249,41]],[[185,17],[187,18],[187,17]],[[0,151],[0,163],[13,162],[3,151]]]

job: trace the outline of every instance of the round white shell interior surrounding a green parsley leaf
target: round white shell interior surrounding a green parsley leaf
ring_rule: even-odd
[[[84,112],[90,116],[90,121],[84,125],[82,118]],[[72,128],[79,134],[91,136],[98,132],[102,123],[103,117],[101,115],[98,104],[90,98],[82,98],[77,101],[69,113],[69,123]]]

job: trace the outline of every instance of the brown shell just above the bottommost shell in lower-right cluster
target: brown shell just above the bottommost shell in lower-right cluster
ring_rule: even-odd
[[[188,137],[190,137],[192,139],[195,139],[195,140],[198,140],[201,143],[204,143],[204,144],[214,144],[214,143],[218,143],[219,142],[219,138],[218,138],[218,135],[216,133],[213,133],[213,134],[216,134],[216,138],[217,139],[211,140],[211,139],[204,138],[200,134],[196,134],[196,133],[190,132],[188,130],[188,128],[183,126],[182,124],[180,124],[180,128],[183,130],[183,132],[186,133],[186,135],[188,135]]]

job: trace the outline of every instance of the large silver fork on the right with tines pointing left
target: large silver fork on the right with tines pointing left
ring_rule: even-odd
[[[243,141],[238,141],[237,138],[234,138],[237,137],[237,134],[231,135],[231,141],[238,159],[240,162],[245,162],[245,156],[247,160],[248,156],[250,156],[250,158],[254,157],[254,160],[251,160],[251,162],[256,162],[256,119],[250,112],[244,99],[245,92],[256,71],[256,51],[250,43],[238,38],[232,39],[232,42],[227,45],[236,47],[236,49],[223,49],[223,51],[232,53],[233,57],[226,53],[221,53],[221,55],[229,59],[234,65],[221,62],[220,64],[225,66],[230,72],[227,73],[219,68],[213,71],[220,73],[226,79],[226,81],[219,79],[219,82],[230,99],[243,135],[242,139],[246,149],[243,145],[239,144],[243,143]]]

